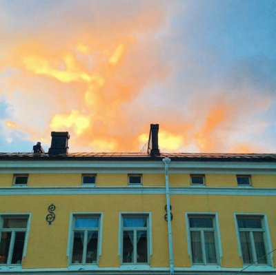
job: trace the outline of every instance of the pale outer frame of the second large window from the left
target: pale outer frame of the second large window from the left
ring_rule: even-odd
[[[74,244],[74,227],[75,227],[75,217],[97,217],[99,218],[99,229],[98,229],[98,244],[97,244],[97,263],[72,263],[72,251],[73,251],[73,244]],[[68,245],[67,245],[67,252],[66,256],[68,257],[68,265],[75,266],[75,265],[98,265],[99,258],[101,256],[101,244],[102,244],[102,230],[103,230],[103,212],[72,212],[70,214],[70,223],[69,223],[69,230],[68,230]],[[85,247],[85,243],[83,244],[83,249]],[[84,252],[83,252],[84,253]],[[84,258],[83,258],[84,260]]]

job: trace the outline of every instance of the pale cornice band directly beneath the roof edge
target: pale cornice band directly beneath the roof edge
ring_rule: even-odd
[[[172,161],[175,174],[276,174],[276,163]],[[0,161],[0,173],[164,173],[161,161]]]

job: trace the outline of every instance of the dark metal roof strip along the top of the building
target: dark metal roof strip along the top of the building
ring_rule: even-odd
[[[276,154],[228,154],[228,153],[161,153],[150,156],[135,152],[72,152],[68,154],[0,153],[0,161],[257,161],[276,162]]]

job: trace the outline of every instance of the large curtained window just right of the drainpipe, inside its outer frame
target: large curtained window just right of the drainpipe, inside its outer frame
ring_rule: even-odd
[[[190,215],[188,223],[193,264],[216,265],[218,248],[215,216]]]

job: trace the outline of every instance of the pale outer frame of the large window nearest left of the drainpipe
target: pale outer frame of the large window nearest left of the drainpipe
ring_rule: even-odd
[[[139,217],[146,216],[148,218],[148,234],[147,234],[147,245],[148,245],[148,263],[123,263],[123,241],[124,241],[124,217]],[[152,256],[152,216],[151,212],[119,212],[119,237],[118,237],[118,255],[120,257],[121,265],[150,265],[150,257]],[[137,249],[134,249],[134,258],[137,254]],[[136,257],[137,258],[137,257]],[[135,258],[135,261],[136,261]]]

